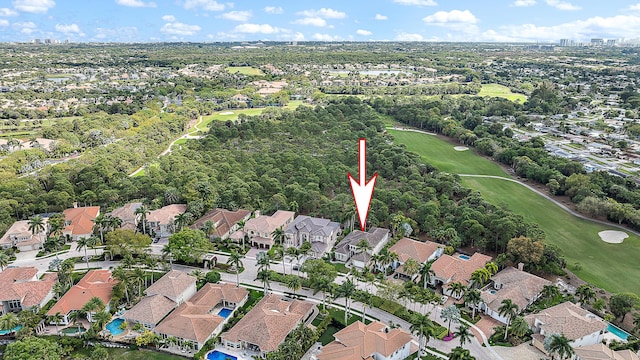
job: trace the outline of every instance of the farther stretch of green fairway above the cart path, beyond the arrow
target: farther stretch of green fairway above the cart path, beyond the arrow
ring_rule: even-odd
[[[507,176],[497,164],[476,155],[472,149],[456,151],[456,146],[434,135],[417,132],[389,130],[397,144],[405,144],[425,162],[438,169],[455,174],[480,174]]]

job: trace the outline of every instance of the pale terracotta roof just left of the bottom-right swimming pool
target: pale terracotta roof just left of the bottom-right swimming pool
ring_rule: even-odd
[[[602,319],[569,301],[524,319],[531,328],[535,328],[537,320],[542,323],[540,328],[546,335],[564,334],[571,341],[607,329],[607,323]]]

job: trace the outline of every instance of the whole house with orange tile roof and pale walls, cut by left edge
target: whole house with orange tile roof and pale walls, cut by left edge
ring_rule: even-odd
[[[34,267],[7,268],[0,272],[0,314],[39,310],[53,298],[58,274],[47,273],[38,280]]]

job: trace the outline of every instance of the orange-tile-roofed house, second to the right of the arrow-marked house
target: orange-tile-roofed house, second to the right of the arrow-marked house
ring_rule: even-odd
[[[466,255],[442,255],[431,264],[434,275],[431,277],[431,285],[442,285],[442,293],[452,296],[449,284],[453,282],[471,285],[471,274],[491,261],[491,256],[475,253],[471,257]],[[462,297],[456,294],[457,299]]]

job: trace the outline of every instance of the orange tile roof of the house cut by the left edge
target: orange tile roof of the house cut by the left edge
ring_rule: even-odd
[[[42,280],[34,267],[7,268],[0,273],[0,301],[20,300],[25,308],[40,305],[58,280],[55,273]]]

